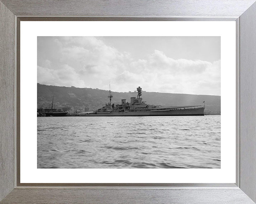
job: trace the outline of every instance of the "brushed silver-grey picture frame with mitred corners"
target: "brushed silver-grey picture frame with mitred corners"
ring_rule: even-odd
[[[256,3],[205,1],[0,1],[0,203],[249,203],[256,202]],[[19,22],[236,21],[236,183],[21,185],[16,132],[20,84]],[[2,29],[4,28],[4,29]],[[17,142],[17,144],[16,144]],[[17,162],[17,163],[16,163]]]

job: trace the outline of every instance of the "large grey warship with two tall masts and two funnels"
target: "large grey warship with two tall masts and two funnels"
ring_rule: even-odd
[[[142,101],[142,88],[137,88],[137,98],[131,97],[130,102],[121,100],[121,104],[112,103],[112,94],[109,91],[109,102],[102,108],[91,112],[82,112],[79,116],[187,116],[204,115],[205,101],[198,106],[155,106]]]

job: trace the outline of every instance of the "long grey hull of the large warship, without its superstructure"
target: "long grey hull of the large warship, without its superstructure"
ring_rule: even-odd
[[[166,111],[138,111],[138,112],[100,112],[81,114],[80,116],[95,117],[95,116],[198,116],[204,115],[204,107],[200,108],[184,108],[171,109]]]

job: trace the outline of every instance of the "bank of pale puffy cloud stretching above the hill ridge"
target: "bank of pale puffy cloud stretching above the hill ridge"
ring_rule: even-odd
[[[143,59],[97,37],[38,38],[37,82],[113,91],[220,95],[220,60],[173,59],[154,50]],[[46,48],[49,50],[46,51]]]

